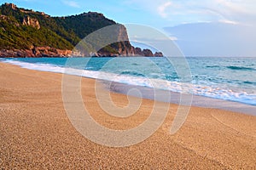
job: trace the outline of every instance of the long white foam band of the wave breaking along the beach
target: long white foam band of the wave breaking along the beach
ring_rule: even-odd
[[[121,82],[135,86],[143,86],[148,88],[157,88],[163,90],[170,90],[177,93],[189,93],[213,99],[224,99],[236,101],[247,105],[256,105],[256,94],[247,94],[247,92],[234,92],[230,89],[215,88],[212,86],[195,85],[191,83],[169,82],[161,79],[147,78],[147,77],[133,77],[129,75],[118,75],[103,71],[87,71],[73,68],[64,68],[57,65],[49,64],[32,64],[21,62],[13,59],[3,59],[4,63],[12,65],[19,65],[22,68],[36,70],[36,71],[50,71],[56,73],[66,73],[81,77],[90,77],[102,79],[110,82]]]

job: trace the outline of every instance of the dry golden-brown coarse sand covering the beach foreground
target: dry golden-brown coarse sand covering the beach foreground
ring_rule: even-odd
[[[0,167],[6,169],[256,169],[256,117],[191,107],[183,127],[169,133],[177,105],[142,143],[113,148],[95,144],[73,127],[64,110],[58,73],[0,63]],[[83,78],[90,115],[105,127],[127,129],[146,120],[154,101],[143,99],[128,118],[98,105],[95,80]],[[127,96],[111,94],[127,105]]]

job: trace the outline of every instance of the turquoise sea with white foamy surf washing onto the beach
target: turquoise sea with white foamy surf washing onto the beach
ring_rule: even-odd
[[[148,89],[144,90],[146,94],[150,89],[157,88],[163,93],[172,92],[174,96],[193,94],[192,105],[256,115],[256,58],[7,58],[0,61],[38,71],[65,73],[67,68],[83,70],[83,74],[78,76],[114,82],[115,87],[120,88],[112,90],[118,93],[126,93],[122,84]],[[184,69],[189,72],[189,82],[183,82],[179,74],[183,65],[178,64],[184,62],[187,65]],[[167,102],[178,103],[178,99],[172,98]]]

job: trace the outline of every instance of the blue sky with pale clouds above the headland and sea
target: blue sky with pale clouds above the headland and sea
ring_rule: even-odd
[[[187,56],[256,57],[255,0],[0,0],[0,3],[15,3],[52,16],[95,11],[121,24],[151,26],[165,32]]]

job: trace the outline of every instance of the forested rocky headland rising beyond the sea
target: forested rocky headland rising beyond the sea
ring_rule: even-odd
[[[51,17],[44,12],[18,8],[13,3],[0,7],[0,57],[66,57],[81,39],[91,32],[105,26],[117,24],[103,14],[89,12],[84,14]],[[117,36],[127,37],[125,26],[119,25]],[[139,52],[139,53],[137,53]],[[145,52],[145,53],[143,53]],[[152,54],[148,49],[141,50],[131,46],[129,41],[116,42],[100,49],[96,56],[143,55]],[[89,56],[80,54],[81,56]]]

